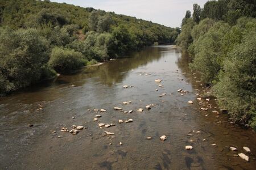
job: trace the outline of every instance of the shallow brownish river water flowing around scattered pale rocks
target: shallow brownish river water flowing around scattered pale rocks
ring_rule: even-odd
[[[0,98],[0,169],[255,169],[256,134],[230,124],[214,99],[203,98],[207,89],[179,48],[151,46],[127,57]],[[154,106],[147,110],[149,104]],[[208,111],[200,111],[207,105]],[[102,117],[93,121],[97,114]],[[98,123],[116,125],[100,129]],[[72,125],[86,129],[76,135],[61,131]]]

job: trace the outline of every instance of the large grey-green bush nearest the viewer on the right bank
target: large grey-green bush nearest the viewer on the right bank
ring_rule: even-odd
[[[234,120],[256,130],[256,27],[234,46],[224,60],[223,71],[213,90],[222,108]]]

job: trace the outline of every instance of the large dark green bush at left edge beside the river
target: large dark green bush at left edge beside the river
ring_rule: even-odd
[[[48,41],[36,29],[0,28],[0,93],[36,83],[46,65]]]

